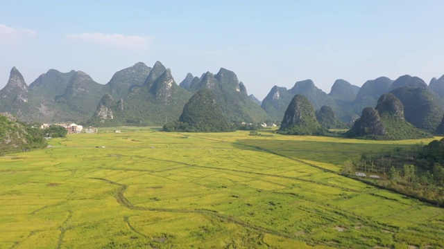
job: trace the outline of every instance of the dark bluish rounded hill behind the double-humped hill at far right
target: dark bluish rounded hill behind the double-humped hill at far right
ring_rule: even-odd
[[[441,122],[443,110],[434,94],[425,88],[404,86],[391,91],[404,105],[405,119],[426,131],[434,131]]]

